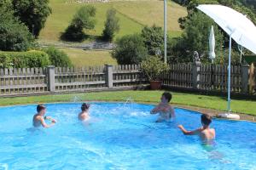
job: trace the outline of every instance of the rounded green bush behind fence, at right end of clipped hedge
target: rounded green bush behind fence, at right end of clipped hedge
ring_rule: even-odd
[[[71,60],[64,51],[54,47],[44,48],[43,51],[49,55],[50,65],[56,67],[71,67]]]

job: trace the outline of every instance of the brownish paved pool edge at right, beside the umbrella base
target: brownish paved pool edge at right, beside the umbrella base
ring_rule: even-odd
[[[217,111],[217,110],[212,110],[212,109],[206,109],[206,108],[201,108],[201,107],[195,107],[195,106],[189,106],[189,105],[174,105],[174,107],[178,108],[183,108],[183,109],[188,109],[191,111],[198,111],[203,114],[208,114],[213,117],[217,117],[219,113],[224,113],[225,111]],[[256,116],[251,116],[251,115],[246,115],[242,113],[234,113],[240,116],[241,121],[249,121],[249,122],[256,122]]]

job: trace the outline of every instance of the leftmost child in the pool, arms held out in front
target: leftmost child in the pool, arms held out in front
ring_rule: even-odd
[[[37,106],[38,113],[33,116],[33,126],[34,127],[52,127],[55,125],[55,119],[51,118],[50,116],[44,116],[46,113],[46,107],[44,105]],[[44,120],[49,120],[51,123],[48,125]]]

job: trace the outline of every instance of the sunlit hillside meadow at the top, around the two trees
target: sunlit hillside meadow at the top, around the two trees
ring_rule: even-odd
[[[65,31],[76,10],[88,3],[67,3],[67,0],[49,0],[52,14],[41,31],[39,41],[57,42],[61,32]],[[143,26],[163,26],[163,1],[111,1],[109,3],[90,3],[96,7],[96,27],[89,34],[94,37],[102,35],[106,12],[115,8],[119,17],[120,31],[116,37],[139,32]],[[167,28],[170,36],[179,36],[181,30],[177,19],[187,14],[186,9],[177,3],[168,2]],[[88,40],[87,40],[88,41]],[[90,41],[90,40],[89,40]]]

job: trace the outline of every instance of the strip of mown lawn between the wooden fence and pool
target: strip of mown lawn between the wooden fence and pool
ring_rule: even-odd
[[[117,91],[98,92],[83,94],[55,94],[32,97],[2,98],[0,105],[24,105],[51,102],[72,102],[74,99],[83,100],[104,100],[104,101],[125,101],[127,98],[135,102],[157,103],[163,91]],[[200,94],[172,93],[172,104],[199,106],[202,108],[218,111],[226,110],[226,99],[216,96]],[[245,113],[256,116],[256,101],[233,99],[231,102],[233,112]]]

